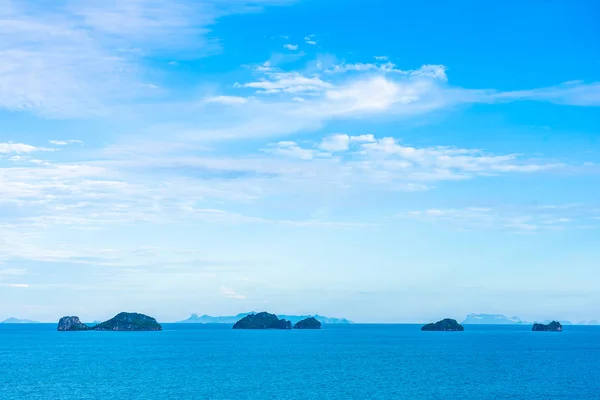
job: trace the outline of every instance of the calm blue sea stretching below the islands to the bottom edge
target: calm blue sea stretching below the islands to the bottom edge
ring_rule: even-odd
[[[600,399],[600,328],[0,325],[0,399]]]

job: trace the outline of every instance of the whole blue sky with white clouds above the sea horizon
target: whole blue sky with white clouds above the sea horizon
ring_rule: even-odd
[[[0,320],[600,320],[600,4],[484,3],[0,0]]]

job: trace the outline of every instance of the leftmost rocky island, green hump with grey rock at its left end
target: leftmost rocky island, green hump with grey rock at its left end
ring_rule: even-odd
[[[122,312],[95,326],[82,323],[79,317],[62,317],[58,321],[57,329],[59,331],[160,331],[162,326],[147,315]]]

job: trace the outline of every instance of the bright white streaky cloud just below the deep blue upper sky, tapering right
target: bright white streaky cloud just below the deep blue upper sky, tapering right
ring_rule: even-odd
[[[516,101],[526,96],[449,86],[442,65],[401,70],[391,63],[329,64],[333,66],[312,63],[302,72],[282,71],[271,62],[255,68],[258,79],[234,86],[271,96],[254,97],[235,110],[220,110],[222,118],[211,124],[204,118],[188,138],[213,141],[284,136],[322,128],[330,120],[414,119],[456,105]],[[339,73],[328,73],[335,71]]]

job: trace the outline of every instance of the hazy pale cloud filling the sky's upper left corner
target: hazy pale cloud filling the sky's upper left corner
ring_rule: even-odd
[[[59,0],[0,5],[0,108],[45,117],[97,116],[156,96],[144,58],[210,54],[208,28],[277,0]],[[158,93],[157,93],[158,92]]]

